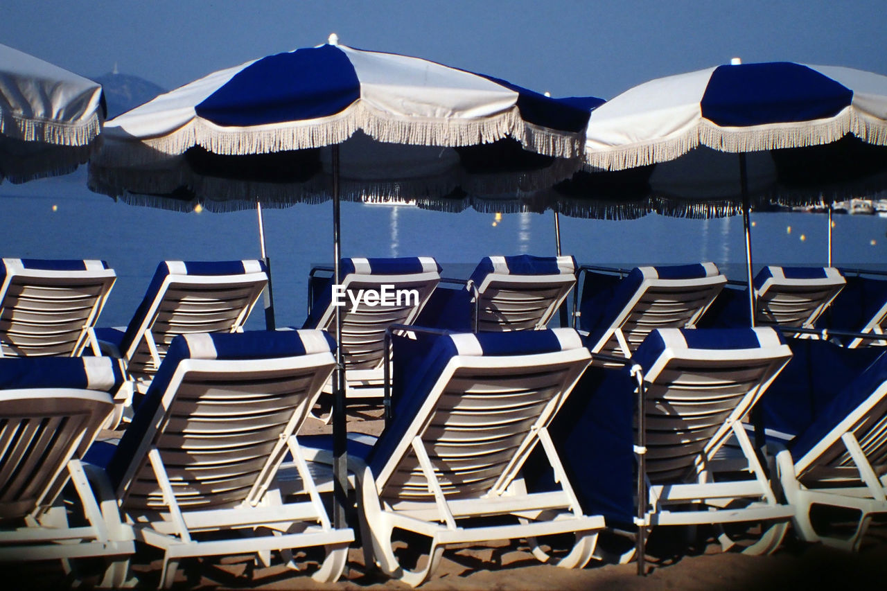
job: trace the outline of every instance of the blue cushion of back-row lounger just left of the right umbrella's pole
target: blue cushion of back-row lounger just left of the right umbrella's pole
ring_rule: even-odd
[[[587,343],[595,344],[613,328],[625,306],[645,279],[694,280],[718,275],[714,264],[677,264],[635,267],[622,280],[612,275],[589,273],[579,303],[580,326],[589,332]]]

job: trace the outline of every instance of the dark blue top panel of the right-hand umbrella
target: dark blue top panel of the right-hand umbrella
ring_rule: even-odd
[[[833,117],[852,98],[853,91],[809,67],[768,62],[716,67],[700,105],[711,122],[748,127]]]

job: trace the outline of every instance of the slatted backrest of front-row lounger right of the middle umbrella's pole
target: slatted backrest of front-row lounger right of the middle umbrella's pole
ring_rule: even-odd
[[[394,418],[368,457],[380,496],[433,500],[419,437],[443,493],[501,493],[590,354],[571,328],[396,337]]]

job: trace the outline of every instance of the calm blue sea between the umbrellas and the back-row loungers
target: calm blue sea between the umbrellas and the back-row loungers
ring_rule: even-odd
[[[257,258],[255,211],[224,214],[129,206],[90,193],[85,170],[25,185],[0,185],[0,256],[99,258],[117,272],[100,326],[125,325],[162,260]],[[332,203],[265,211],[278,326],[302,325],[311,264],[333,259]],[[459,214],[345,203],[342,256],[434,256],[467,277],[487,255],[553,255],[553,214]],[[827,217],[753,214],[752,250],[762,264],[826,264]],[[887,269],[887,218],[835,216],[833,261]],[[744,277],[742,217],[693,220],[650,215],[631,221],[561,217],[564,254],[609,266],[714,261]],[[261,311],[247,327],[263,327]]]

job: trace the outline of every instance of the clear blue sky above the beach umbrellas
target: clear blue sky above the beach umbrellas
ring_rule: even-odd
[[[612,98],[662,75],[792,60],[887,74],[887,0],[10,0],[0,43],[167,88],[323,43],[394,51],[555,96]]]

